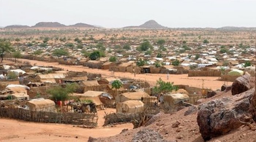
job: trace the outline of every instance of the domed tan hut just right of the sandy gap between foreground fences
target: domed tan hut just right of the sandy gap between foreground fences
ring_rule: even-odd
[[[117,103],[116,112],[117,113],[136,113],[144,111],[144,103],[138,100],[128,100],[121,103]]]

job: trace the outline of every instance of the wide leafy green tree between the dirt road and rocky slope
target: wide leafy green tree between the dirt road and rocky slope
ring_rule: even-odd
[[[159,94],[159,93],[169,93],[172,92],[173,90],[177,91],[178,87],[173,85],[173,82],[165,82],[161,78],[157,81],[157,84],[153,88],[154,93]]]

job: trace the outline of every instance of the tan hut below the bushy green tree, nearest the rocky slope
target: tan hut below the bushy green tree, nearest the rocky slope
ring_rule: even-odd
[[[165,107],[171,107],[174,106],[181,101],[188,101],[189,96],[187,94],[181,94],[181,93],[176,93],[176,94],[167,94],[163,95],[163,102]]]

